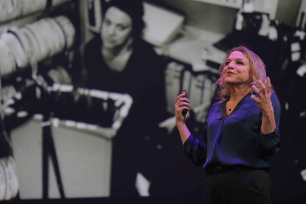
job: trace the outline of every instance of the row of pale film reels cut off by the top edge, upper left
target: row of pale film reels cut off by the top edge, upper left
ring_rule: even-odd
[[[0,22],[43,11],[50,0],[0,0]],[[58,6],[69,0],[51,0],[51,6]]]

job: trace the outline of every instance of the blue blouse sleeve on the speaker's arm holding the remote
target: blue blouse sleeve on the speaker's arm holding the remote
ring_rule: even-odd
[[[199,138],[189,135],[183,148],[187,157],[197,166],[204,165],[207,154],[207,121],[205,122],[203,134]]]

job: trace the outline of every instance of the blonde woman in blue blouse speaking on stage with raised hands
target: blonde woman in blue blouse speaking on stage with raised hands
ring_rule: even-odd
[[[216,81],[219,101],[211,106],[203,134],[185,124],[185,94],[175,104],[185,153],[207,174],[207,203],[272,203],[267,157],[280,149],[281,106],[263,61],[244,46],[229,51]]]

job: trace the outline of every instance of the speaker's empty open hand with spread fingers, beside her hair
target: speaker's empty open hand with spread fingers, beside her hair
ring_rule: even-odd
[[[271,102],[271,81],[270,78],[267,77],[267,87],[263,84],[261,80],[258,80],[259,86],[261,87],[261,92],[259,89],[252,85],[253,90],[256,92],[257,97],[255,95],[252,95],[251,98],[257,103],[260,111],[263,114],[270,114],[273,112],[273,106]],[[271,112],[272,111],[272,112]]]

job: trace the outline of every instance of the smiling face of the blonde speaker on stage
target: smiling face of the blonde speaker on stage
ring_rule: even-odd
[[[223,79],[228,84],[244,84],[249,78],[250,63],[240,51],[232,52],[227,57],[223,68]]]

